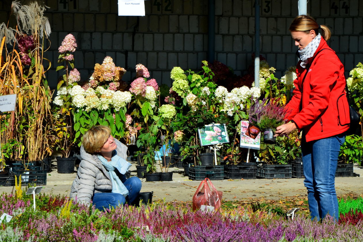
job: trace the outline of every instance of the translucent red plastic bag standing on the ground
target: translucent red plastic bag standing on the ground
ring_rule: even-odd
[[[209,185],[211,186],[210,188]],[[211,180],[205,178],[200,182],[199,187],[193,196],[193,210],[200,209],[201,205],[213,206],[214,209],[219,209],[221,200],[222,191],[217,191]]]

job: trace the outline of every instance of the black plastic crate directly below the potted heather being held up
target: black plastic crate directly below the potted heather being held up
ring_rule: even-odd
[[[257,177],[273,178],[291,178],[291,164],[263,164],[257,165]]]

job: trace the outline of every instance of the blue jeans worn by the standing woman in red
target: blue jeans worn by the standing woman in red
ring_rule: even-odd
[[[302,139],[304,184],[307,188],[311,220],[317,218],[320,221],[329,214],[338,221],[338,199],[334,182],[340,145],[344,140],[344,134],[310,142]]]

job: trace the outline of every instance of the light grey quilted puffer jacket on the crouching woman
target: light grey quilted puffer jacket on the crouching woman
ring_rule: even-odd
[[[115,139],[117,155],[126,160],[127,146]],[[77,176],[70,189],[70,197],[82,204],[90,204],[94,193],[111,192],[112,184],[109,172],[102,165],[96,154],[90,154],[81,146],[82,161]]]

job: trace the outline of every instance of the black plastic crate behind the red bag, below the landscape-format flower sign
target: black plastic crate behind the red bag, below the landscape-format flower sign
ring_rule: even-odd
[[[191,180],[223,180],[224,166],[223,165],[191,165],[189,166],[188,177]]]

